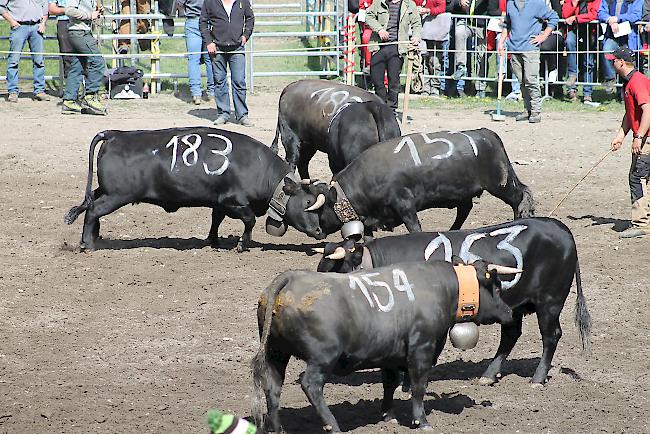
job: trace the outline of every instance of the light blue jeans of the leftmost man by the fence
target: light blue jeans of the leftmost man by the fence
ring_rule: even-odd
[[[43,52],[43,35],[38,33],[38,24],[20,26],[9,32],[9,51],[23,51],[25,42],[33,53]],[[19,53],[11,53],[7,59],[7,90],[18,93]],[[45,92],[45,61],[42,54],[32,54],[32,72],[34,75],[34,93]]]

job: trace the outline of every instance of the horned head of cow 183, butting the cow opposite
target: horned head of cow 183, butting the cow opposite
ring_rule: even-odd
[[[317,240],[327,236],[320,226],[319,212],[325,198],[314,194],[309,188],[300,185],[289,177],[284,178],[284,193],[289,196],[284,220],[302,233]]]

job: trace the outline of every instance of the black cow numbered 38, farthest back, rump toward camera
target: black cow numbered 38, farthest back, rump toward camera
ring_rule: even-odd
[[[284,88],[278,103],[278,138],[292,168],[309,178],[309,161],[316,151],[329,157],[338,173],[375,143],[400,136],[392,110],[375,94],[355,86],[325,80],[300,80]]]

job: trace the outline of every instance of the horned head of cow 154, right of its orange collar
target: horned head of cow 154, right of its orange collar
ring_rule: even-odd
[[[476,261],[472,265],[476,269],[479,284],[479,309],[474,322],[477,324],[511,323],[512,309],[501,298],[499,275],[514,274],[521,270],[488,264],[485,261]]]

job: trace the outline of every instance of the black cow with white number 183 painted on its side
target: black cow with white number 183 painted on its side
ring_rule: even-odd
[[[91,191],[95,147],[100,142],[104,143],[97,155],[99,186]],[[286,162],[243,134],[204,127],[109,130],[93,138],[88,157],[85,198],[64,218],[71,224],[86,212],[82,248],[94,248],[100,217],[138,202],[167,212],[180,207],[212,208],[208,239],[213,245],[218,245],[223,219],[239,219],[244,223],[240,251],[251,240],[255,217],[267,212],[272,198],[283,202],[276,206],[280,209],[276,226],[287,223],[314,238],[325,237],[313,210],[316,197],[292,179]]]

